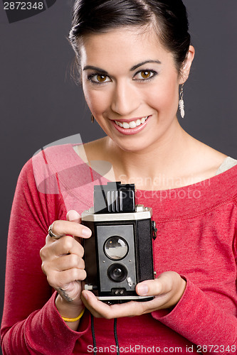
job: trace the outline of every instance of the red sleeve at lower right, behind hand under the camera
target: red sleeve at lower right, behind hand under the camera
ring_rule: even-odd
[[[196,344],[199,352],[236,354],[237,318],[187,279],[184,295],[174,309],[152,312],[152,317]]]

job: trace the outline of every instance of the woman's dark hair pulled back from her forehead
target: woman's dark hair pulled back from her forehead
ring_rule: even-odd
[[[180,72],[190,45],[189,22],[181,0],[76,0],[68,38],[80,67],[78,45],[83,36],[149,24],[156,28],[162,45],[173,53]]]

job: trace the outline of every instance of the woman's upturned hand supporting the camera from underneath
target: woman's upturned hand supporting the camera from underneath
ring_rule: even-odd
[[[82,300],[85,307],[97,318],[133,317],[145,313],[170,308],[177,305],[186,288],[186,281],[174,271],[167,271],[159,275],[155,280],[146,280],[138,283],[136,292],[141,296],[154,296],[153,300],[145,302],[130,301],[122,304],[107,305],[95,297],[95,295],[83,290]]]

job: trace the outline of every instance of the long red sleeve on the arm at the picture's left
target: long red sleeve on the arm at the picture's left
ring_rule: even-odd
[[[48,226],[65,215],[60,194],[38,191],[29,160],[19,176],[11,209],[1,323],[3,354],[71,354],[75,342],[88,330],[86,312],[78,332],[67,327],[55,306],[56,293],[41,270],[39,251]]]

